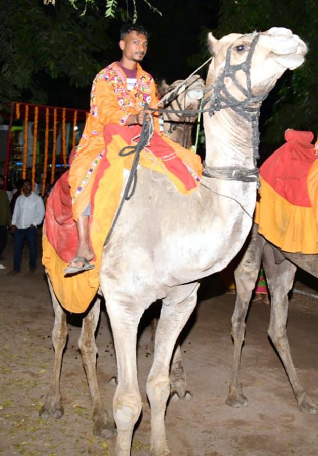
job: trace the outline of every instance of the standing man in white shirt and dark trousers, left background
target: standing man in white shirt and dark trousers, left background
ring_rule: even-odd
[[[32,192],[32,183],[24,180],[23,195],[17,198],[14,206],[11,230],[14,233],[14,269],[8,275],[21,271],[22,249],[26,239],[30,250],[30,272],[36,270],[37,263],[37,226],[41,224],[45,209],[41,196]]]

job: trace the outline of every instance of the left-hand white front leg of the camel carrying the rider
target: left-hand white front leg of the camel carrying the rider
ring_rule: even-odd
[[[117,426],[116,456],[129,456],[134,426],[142,403],[137,378],[137,330],[144,307],[106,300],[117,359],[118,385],[113,399]]]

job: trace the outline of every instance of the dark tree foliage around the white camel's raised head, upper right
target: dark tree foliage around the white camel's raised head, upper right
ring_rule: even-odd
[[[262,144],[272,151],[286,128],[318,129],[318,3],[315,0],[223,0],[216,34],[285,27],[309,46],[306,62],[287,71],[263,104]]]

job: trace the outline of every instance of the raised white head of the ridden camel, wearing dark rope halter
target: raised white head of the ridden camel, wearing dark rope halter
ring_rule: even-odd
[[[299,36],[281,27],[247,35],[231,33],[220,40],[209,33],[208,46],[213,60],[206,85],[222,79],[229,97],[242,101],[250,92],[252,103],[262,101],[284,71],[300,66],[307,53]]]

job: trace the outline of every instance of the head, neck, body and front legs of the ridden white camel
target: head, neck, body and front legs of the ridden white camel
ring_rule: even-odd
[[[124,204],[103,251],[100,283],[118,369],[113,400],[118,456],[130,454],[141,412],[138,323],[158,299],[163,306],[147,395],[151,451],[169,454],[164,416],[177,337],[195,307],[198,280],[224,269],[251,229],[259,108],[277,79],[301,65],[307,52],[305,43],[284,28],[230,34],[219,41],[209,34],[209,43],[214,58],[206,82],[213,85],[204,115],[206,176],[196,192],[183,196],[168,180],[154,181],[140,168],[136,193]],[[84,332],[82,345],[88,339]]]

